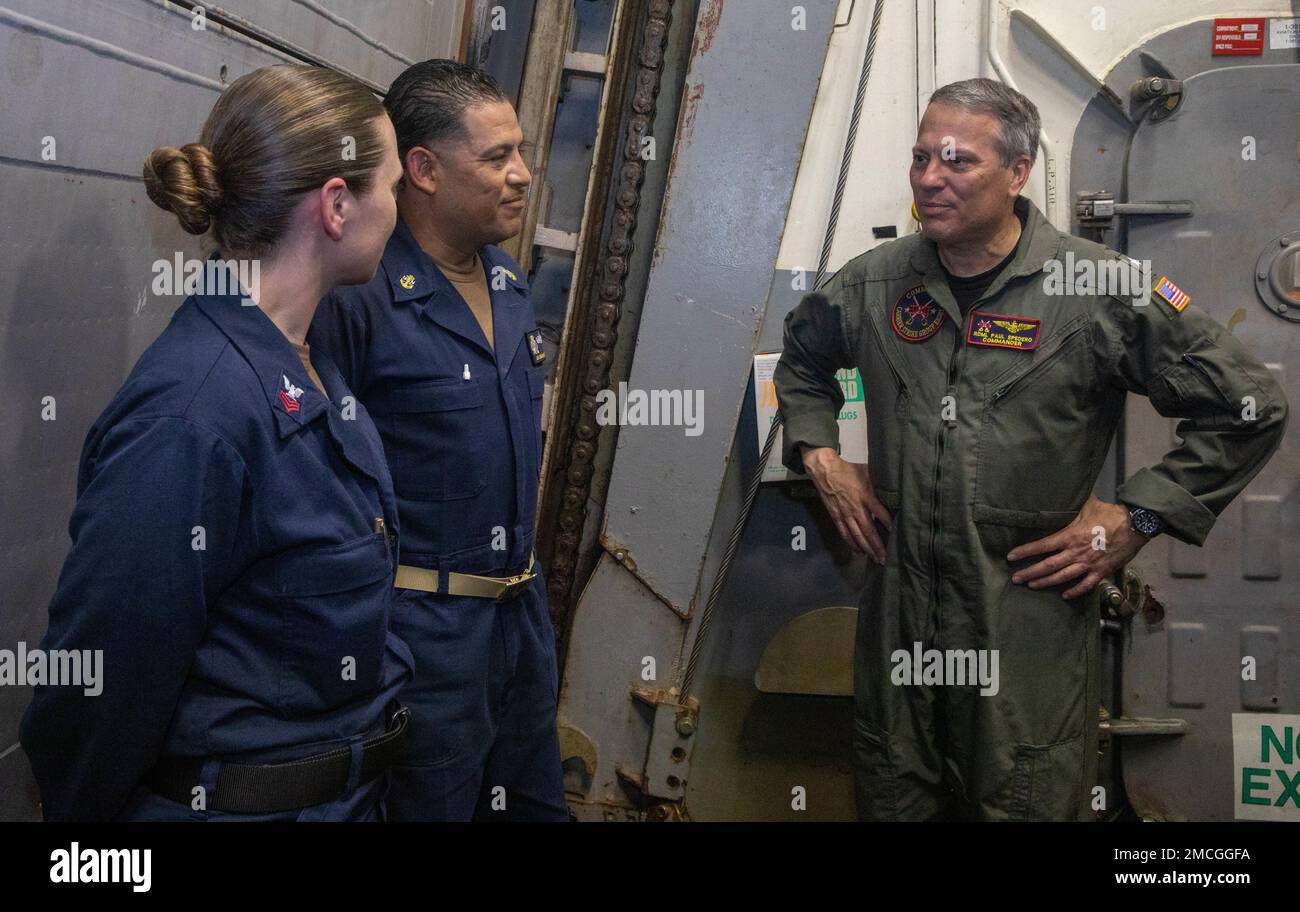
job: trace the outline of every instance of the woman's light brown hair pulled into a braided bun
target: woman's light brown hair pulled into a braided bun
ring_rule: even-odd
[[[303,195],[330,178],[365,194],[384,158],[384,105],[333,70],[285,64],[235,79],[198,143],[153,149],[144,190],[190,234],[212,230],[222,253],[261,256]]]

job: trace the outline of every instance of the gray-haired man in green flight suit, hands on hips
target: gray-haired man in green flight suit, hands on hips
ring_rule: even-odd
[[[920,233],[852,260],[785,321],[783,461],[871,559],[864,820],[1086,818],[1097,583],[1161,533],[1204,543],[1286,427],[1279,385],[1186,292],[1019,195],[1039,129],[1001,83],[935,92],[910,171]],[[835,372],[852,366],[870,472],[838,456]],[[1127,392],[1184,418],[1182,443],[1109,504],[1092,487]]]

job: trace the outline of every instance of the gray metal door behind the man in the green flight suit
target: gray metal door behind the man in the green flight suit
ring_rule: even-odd
[[[1184,100],[1167,120],[1139,127],[1128,199],[1190,199],[1196,210],[1190,218],[1130,220],[1127,252],[1150,260],[1196,307],[1230,327],[1283,381],[1294,403],[1297,390],[1287,377],[1295,377],[1300,359],[1300,326],[1257,300],[1254,264],[1279,235],[1300,233],[1300,197],[1279,192],[1300,186],[1300,66],[1238,64],[1175,74],[1184,79]],[[1257,149],[1253,158],[1243,156],[1247,136]],[[1145,399],[1130,399],[1128,473],[1164,456],[1166,429],[1167,420]],[[1124,715],[1190,722],[1182,738],[1126,742],[1124,782],[1140,813],[1231,818],[1232,713],[1300,705],[1300,681],[1288,674],[1297,640],[1287,622],[1296,609],[1292,568],[1300,565],[1300,542],[1286,534],[1300,522],[1296,434],[1292,422],[1282,448],[1223,512],[1204,548],[1166,544],[1171,551],[1164,560],[1157,548],[1139,555],[1139,572],[1165,605],[1166,629],[1134,620]],[[1253,681],[1245,677],[1247,656]]]

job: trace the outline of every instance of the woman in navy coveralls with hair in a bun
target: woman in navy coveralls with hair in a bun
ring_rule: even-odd
[[[374,274],[400,175],[378,100],[298,65],[146,161],[150,199],[256,281],[208,269],[86,438],[42,648],[101,651],[103,690],[35,690],[48,820],[382,818],[412,672],[393,483],[304,343],[325,292]]]

